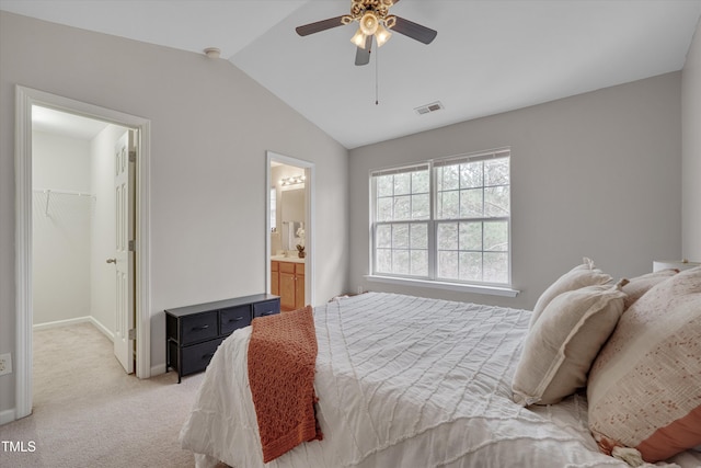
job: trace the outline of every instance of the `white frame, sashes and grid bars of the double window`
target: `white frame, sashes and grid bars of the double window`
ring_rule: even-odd
[[[512,267],[512,258],[513,258],[513,237],[512,237],[512,151],[509,147],[497,148],[487,151],[479,151],[472,153],[463,153],[458,156],[451,156],[446,158],[438,159],[429,159],[426,161],[421,161],[411,164],[397,165],[386,169],[377,169],[371,170],[369,172],[369,195],[370,195],[370,226],[369,226],[369,270],[370,273],[366,275],[366,278],[371,281],[382,281],[386,283],[394,283],[394,284],[413,284],[421,286],[429,286],[429,287],[439,287],[444,289],[456,289],[456,290],[472,290],[479,293],[486,294],[497,294],[505,296],[516,296],[518,294],[517,290],[512,288],[513,285],[513,267]],[[495,159],[507,159],[508,160],[508,184],[499,184],[501,186],[508,186],[508,214],[505,216],[495,216],[495,217],[486,217],[482,214],[481,217],[460,217],[460,213],[458,217],[452,218],[437,218],[438,213],[438,169],[441,167],[456,165],[460,163],[469,163],[476,161],[485,161],[485,160],[495,160]],[[377,182],[382,175],[397,175],[405,172],[415,172],[415,171],[428,171],[428,196],[429,196],[429,214],[427,219],[412,219],[411,218],[411,206],[410,206],[410,218],[409,219],[382,219],[378,220],[378,186]],[[486,181],[482,180],[479,189],[482,190],[482,204],[484,204],[484,191],[486,185]],[[496,185],[495,185],[496,186]],[[462,190],[460,185],[458,185],[457,191]],[[446,192],[446,191],[443,191]],[[412,194],[411,187],[409,194]],[[392,197],[397,196],[394,194]],[[401,196],[401,194],[399,195]],[[438,271],[438,227],[441,224],[459,224],[460,222],[481,222],[482,224],[482,241],[484,240],[484,222],[491,221],[506,221],[506,239],[507,239],[507,250],[506,253],[506,282],[490,282],[490,281],[474,281],[474,279],[460,279],[452,277],[441,277],[439,276]],[[426,225],[426,255],[427,255],[427,272],[426,275],[416,275],[416,274],[404,274],[404,273],[392,273],[392,272],[379,272],[378,271],[378,250],[384,249],[383,247],[378,246],[378,227],[381,226],[398,226],[398,225],[412,225],[412,224],[425,224]],[[459,229],[459,227],[458,227]],[[388,248],[390,252],[393,252],[394,249],[390,246]],[[397,249],[397,250],[402,250]],[[406,249],[411,252],[411,241],[409,248]],[[416,249],[418,250],[418,249]],[[468,252],[468,250],[460,250],[457,248],[458,252]],[[475,251],[481,253],[481,261],[484,264],[484,253],[490,252],[485,250],[485,246],[482,244],[481,250]],[[410,253],[411,255],[411,253]],[[411,269],[411,262],[410,262]],[[484,271],[481,269],[482,278],[484,278]]]

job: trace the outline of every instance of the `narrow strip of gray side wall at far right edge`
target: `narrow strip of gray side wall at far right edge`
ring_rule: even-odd
[[[701,20],[681,79],[682,255],[701,262]]]

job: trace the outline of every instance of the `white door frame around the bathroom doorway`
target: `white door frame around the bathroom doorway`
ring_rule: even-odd
[[[301,159],[290,158],[289,156],[283,156],[275,151],[266,151],[265,157],[265,292],[271,292],[271,162],[281,162],[287,165],[295,165],[304,170],[304,246],[307,249],[307,261],[304,262],[304,298],[307,304],[312,306],[315,304],[314,297],[314,259],[317,249],[314,248],[314,232],[317,231],[315,224],[315,167],[313,162],[304,161]]]

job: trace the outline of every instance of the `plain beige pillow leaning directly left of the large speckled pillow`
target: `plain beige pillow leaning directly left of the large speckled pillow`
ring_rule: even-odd
[[[545,307],[516,367],[515,402],[552,404],[586,385],[591,363],[623,313],[625,283],[570,290]]]

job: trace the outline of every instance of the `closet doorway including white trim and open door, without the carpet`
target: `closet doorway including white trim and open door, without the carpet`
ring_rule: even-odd
[[[150,124],[23,87],[16,94],[19,419],[32,412],[35,328],[91,322],[125,372],[150,377]]]

